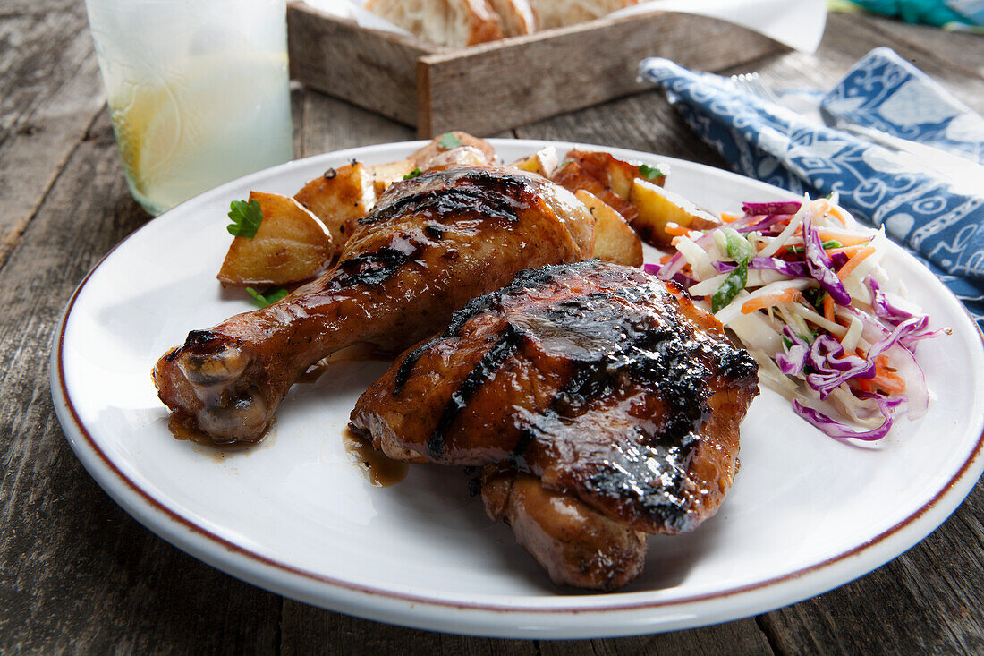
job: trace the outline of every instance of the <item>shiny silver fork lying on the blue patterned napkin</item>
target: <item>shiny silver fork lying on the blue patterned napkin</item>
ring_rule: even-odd
[[[910,164],[927,168],[952,180],[954,184],[958,184],[961,187],[966,186],[968,189],[977,191],[981,182],[984,181],[984,166],[981,164],[976,164],[975,162],[938,148],[927,146],[926,144],[896,137],[877,128],[838,118],[812,102],[795,101],[798,98],[782,98],[769,85],[763,82],[762,77],[758,73],[732,75],[731,81],[740,90],[791,109],[812,123],[826,125],[827,127],[853,134],[865,141],[884,146],[895,153],[909,156],[911,158]]]

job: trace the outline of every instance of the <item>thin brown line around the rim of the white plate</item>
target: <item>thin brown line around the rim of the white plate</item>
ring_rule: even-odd
[[[146,224],[144,227],[146,227],[147,225],[149,225],[149,224]],[[72,416],[72,421],[75,422],[75,425],[78,427],[79,432],[82,434],[82,436],[85,438],[85,440],[89,443],[89,446],[90,446],[90,448],[92,448],[92,451],[99,457],[100,460],[102,460],[102,462],[106,465],[106,467],[109,469],[109,471],[111,471],[113,474],[115,474],[133,492],[137,492],[148,503],[150,503],[150,505],[152,507],[154,507],[156,510],[158,510],[158,511],[162,512],[163,514],[165,514],[172,521],[174,521],[174,522],[176,522],[178,524],[183,525],[185,528],[190,529],[192,532],[197,533],[197,534],[201,535],[204,538],[207,538],[208,540],[210,540],[213,543],[215,543],[215,545],[220,546],[220,547],[224,548],[225,550],[227,550],[229,552],[233,552],[233,553],[239,554],[239,555],[244,556],[246,558],[250,558],[250,559],[252,559],[252,560],[254,560],[256,562],[263,563],[265,565],[268,565],[268,566],[277,568],[277,569],[279,569],[281,571],[288,572],[290,574],[301,576],[303,578],[307,578],[307,579],[312,580],[312,581],[318,581],[318,582],[321,582],[321,583],[328,583],[330,585],[334,585],[334,586],[337,586],[339,588],[344,588],[344,589],[350,590],[352,592],[358,592],[358,593],[368,594],[368,595],[378,595],[378,596],[381,596],[381,597],[389,597],[391,599],[399,599],[399,600],[407,601],[407,602],[414,603],[414,604],[427,604],[427,605],[430,605],[430,606],[440,606],[440,607],[445,607],[445,608],[457,608],[457,609],[466,609],[466,610],[475,610],[475,611],[492,611],[492,612],[499,612],[499,613],[510,613],[510,612],[513,612],[513,613],[543,613],[543,614],[554,614],[554,613],[574,613],[574,614],[578,614],[578,613],[600,613],[600,612],[608,612],[608,611],[633,611],[633,610],[641,610],[641,609],[646,609],[646,608],[661,608],[661,607],[664,607],[664,606],[678,606],[678,605],[682,605],[682,604],[693,604],[693,603],[708,601],[708,600],[711,600],[711,599],[719,599],[719,598],[724,598],[724,597],[730,597],[730,596],[741,594],[741,593],[744,593],[744,592],[749,592],[751,590],[758,590],[760,588],[769,587],[770,585],[773,585],[775,583],[779,583],[779,582],[782,582],[782,581],[787,581],[787,580],[790,580],[790,579],[799,578],[799,577],[801,577],[801,576],[803,576],[805,574],[809,574],[809,573],[812,573],[814,571],[823,569],[824,567],[827,567],[827,566],[829,566],[829,565],[831,565],[831,564],[833,564],[835,562],[839,562],[839,561],[844,560],[846,558],[851,558],[853,556],[856,556],[856,555],[860,554],[861,552],[864,552],[867,549],[869,549],[869,548],[871,548],[871,547],[873,547],[873,546],[875,546],[875,545],[877,545],[877,544],[885,541],[886,539],[890,538],[895,533],[898,533],[902,529],[906,528],[909,524],[911,524],[913,521],[915,521],[916,519],[918,519],[919,517],[921,517],[923,514],[925,514],[927,510],[929,510],[934,505],[936,505],[936,503],[941,498],[943,498],[943,496],[945,496],[948,492],[950,492],[951,488],[953,488],[953,485],[955,485],[958,481],[960,481],[963,478],[963,475],[966,473],[967,469],[970,467],[970,464],[974,460],[977,459],[977,456],[980,455],[982,448],[984,448],[984,432],[982,432],[980,434],[980,436],[978,436],[977,443],[974,446],[973,450],[970,452],[970,455],[967,457],[967,459],[963,462],[963,464],[957,470],[956,474],[953,475],[953,478],[951,478],[951,480],[947,482],[947,485],[944,486],[940,490],[940,492],[937,492],[936,494],[934,494],[933,495],[933,498],[931,498],[929,501],[927,501],[926,503],[924,503],[922,505],[922,507],[920,507],[918,510],[916,510],[915,512],[913,512],[912,514],[910,514],[908,517],[906,517],[905,519],[901,520],[900,522],[898,522],[897,524],[895,524],[894,526],[892,526],[888,530],[886,530],[886,531],[882,532],[881,534],[875,536],[871,540],[868,540],[867,542],[865,542],[865,543],[863,543],[861,545],[858,545],[857,547],[854,547],[853,549],[850,549],[850,550],[848,550],[846,552],[843,552],[842,554],[838,554],[836,556],[832,556],[830,558],[827,558],[825,560],[822,560],[820,562],[817,562],[815,564],[812,564],[809,567],[803,567],[802,569],[798,569],[796,571],[792,571],[792,572],[789,572],[787,574],[783,574],[781,576],[774,576],[774,577],[769,578],[769,579],[764,580],[764,581],[758,581],[756,583],[749,583],[747,585],[742,585],[742,586],[738,586],[738,587],[735,587],[735,588],[730,588],[728,590],[720,590],[720,591],[717,591],[717,592],[710,592],[710,593],[702,594],[702,595],[694,595],[692,597],[686,597],[686,598],[682,598],[682,599],[651,601],[651,602],[636,602],[636,603],[627,603],[627,604],[618,604],[618,605],[605,605],[605,606],[596,606],[596,607],[563,607],[563,606],[552,606],[550,608],[536,608],[536,607],[514,608],[514,607],[510,607],[510,606],[506,606],[506,605],[493,606],[493,605],[489,605],[489,604],[477,604],[477,603],[476,604],[467,604],[467,603],[445,602],[445,601],[441,601],[441,600],[437,600],[437,599],[432,599],[432,598],[429,598],[429,597],[419,597],[419,596],[414,596],[414,595],[409,595],[409,594],[403,594],[403,593],[393,592],[393,591],[390,591],[390,590],[382,590],[382,589],[379,589],[379,588],[373,588],[373,587],[369,587],[369,586],[365,586],[365,585],[358,585],[358,584],[350,583],[348,581],[339,580],[339,579],[333,578],[331,576],[325,576],[323,574],[318,574],[318,573],[313,572],[313,571],[308,571],[306,569],[301,569],[299,567],[294,567],[294,566],[289,565],[289,564],[286,564],[284,562],[279,562],[277,560],[274,560],[273,558],[267,558],[266,556],[263,556],[261,554],[257,554],[255,552],[251,552],[251,551],[249,551],[247,549],[244,549],[241,546],[239,546],[239,545],[237,545],[237,544],[235,544],[233,542],[230,542],[230,541],[226,540],[225,538],[222,538],[220,536],[215,535],[215,533],[212,533],[211,531],[206,530],[205,528],[203,528],[203,527],[199,526],[198,524],[196,524],[196,523],[194,523],[194,522],[186,519],[185,517],[182,517],[180,514],[178,514],[174,510],[171,510],[166,505],[164,505],[163,503],[161,503],[160,501],[158,501],[156,498],[154,498],[153,495],[151,495],[149,492],[146,492],[143,488],[141,488],[140,486],[138,486],[130,478],[128,478],[125,474],[123,474],[123,472],[120,471],[118,467],[116,467],[116,464],[113,463],[112,460],[110,460],[106,456],[106,454],[102,451],[102,449],[99,448],[98,444],[95,443],[95,440],[92,439],[92,434],[89,432],[88,429],[86,429],[86,426],[84,426],[83,423],[82,423],[82,421],[79,419],[79,415],[78,415],[78,413],[76,413],[75,406],[72,404],[72,400],[71,400],[71,398],[69,397],[69,394],[68,394],[68,387],[65,384],[64,367],[62,366],[62,351],[63,351],[64,340],[65,340],[65,326],[68,323],[68,318],[69,318],[69,316],[72,313],[72,308],[75,305],[76,299],[79,297],[79,294],[82,292],[83,288],[89,282],[89,279],[92,278],[92,274],[95,273],[95,271],[102,265],[102,263],[106,260],[107,257],[109,257],[113,252],[115,252],[115,250],[117,248],[119,248],[124,243],[126,243],[127,241],[129,241],[130,237],[132,237],[137,232],[143,230],[144,227],[142,227],[141,229],[134,230],[133,232],[131,232],[129,235],[127,235],[125,238],[123,238],[118,244],[116,244],[115,246],[113,246],[105,255],[103,255],[101,258],[99,258],[99,261],[96,262],[95,265],[92,266],[92,270],[90,270],[90,272],[88,274],[86,274],[86,277],[82,279],[82,282],[79,283],[79,286],[76,288],[75,292],[72,293],[72,297],[69,298],[68,304],[65,306],[65,312],[62,315],[62,319],[61,319],[61,322],[60,322],[60,325],[59,325],[59,329],[58,329],[58,344],[57,344],[57,349],[58,350],[57,350],[56,353],[57,353],[58,385],[60,387],[61,395],[65,399],[65,407],[68,409],[69,413]],[[963,310],[963,312],[967,315],[967,318],[970,319],[971,324],[977,329],[977,337],[981,340],[981,344],[984,345],[984,333],[981,332],[981,329],[977,325],[977,322],[973,320],[973,317],[972,316],[970,316],[970,313],[967,311],[967,309],[963,305],[963,303],[960,303],[959,300],[957,300],[957,302],[959,303],[960,308]],[[98,482],[98,481],[96,481],[96,482]],[[101,487],[101,485],[100,485],[100,487]],[[108,491],[106,491],[106,492],[108,492]],[[112,496],[112,494],[110,494],[110,496]],[[115,497],[113,497],[113,498],[114,498],[114,500],[116,500]],[[954,506],[952,513],[955,512],[956,508],[959,507],[959,503],[961,503],[961,502],[962,502],[962,499],[960,500],[960,502],[957,503],[956,506]],[[118,501],[117,501],[117,503],[118,503]],[[950,517],[950,515],[948,515],[943,521],[945,522],[947,519],[949,519],[949,517]],[[940,525],[942,525],[942,524],[943,524],[943,522],[941,522]],[[935,531],[936,528],[939,528],[939,526],[934,527],[933,530]],[[154,531],[152,531],[152,532],[154,532]],[[932,533],[932,531],[930,533]],[[927,534],[927,535],[929,535],[929,534]],[[922,539],[920,539],[920,541],[921,540]],[[167,542],[167,541],[165,540],[165,542]],[[195,555],[195,554],[193,554],[193,556],[196,556],[196,558],[198,558],[198,556]],[[897,557],[894,557],[894,558],[897,558]],[[890,560],[891,559],[893,559],[893,558],[890,558]],[[887,562],[888,562],[888,560],[887,560]],[[877,565],[877,566],[881,566],[881,564],[884,564],[884,563],[879,563],[879,565]],[[220,569],[220,568],[219,567],[216,567],[216,569]],[[226,573],[228,573],[228,572],[226,571]],[[861,574],[861,575],[864,575],[864,574]],[[844,582],[846,583],[847,581],[844,581]],[[839,585],[840,584],[838,584],[838,586]],[[258,586],[258,587],[262,587],[262,586]],[[837,586],[834,586],[834,587],[837,587]],[[642,592],[642,591],[639,591],[639,592]],[[638,594],[639,592],[634,592],[634,593],[629,593],[629,594]],[[620,593],[617,593],[617,592],[616,593],[611,593],[609,595],[606,595],[604,598],[605,599],[611,599],[613,595],[617,595],[617,594],[620,594]],[[819,594],[819,592],[818,592],[818,594]]]

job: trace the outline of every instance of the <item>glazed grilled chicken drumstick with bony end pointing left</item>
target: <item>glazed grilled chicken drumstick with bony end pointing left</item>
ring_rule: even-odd
[[[398,353],[519,271],[590,257],[592,239],[573,194],[515,168],[452,166],[398,182],[332,271],[168,351],[154,367],[158,396],[216,442],[256,440],[313,363],[356,343]]]

